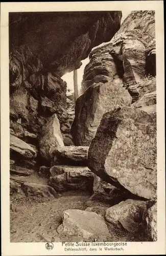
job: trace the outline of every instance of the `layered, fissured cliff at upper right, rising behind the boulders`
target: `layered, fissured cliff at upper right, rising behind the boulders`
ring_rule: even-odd
[[[111,41],[89,54],[90,62],[85,67],[82,93],[93,82],[101,81],[100,77],[98,79],[101,75],[103,82],[123,78],[126,83],[134,83],[145,74],[156,74],[154,15],[154,11],[131,12]]]

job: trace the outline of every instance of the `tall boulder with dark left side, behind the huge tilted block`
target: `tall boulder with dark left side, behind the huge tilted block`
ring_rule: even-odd
[[[131,96],[121,83],[94,83],[76,101],[75,119],[71,133],[75,145],[89,146],[103,114],[118,105],[129,106]]]

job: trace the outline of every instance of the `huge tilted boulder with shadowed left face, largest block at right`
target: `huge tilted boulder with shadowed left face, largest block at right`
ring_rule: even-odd
[[[156,115],[124,107],[103,116],[88,151],[89,169],[122,190],[156,198]]]

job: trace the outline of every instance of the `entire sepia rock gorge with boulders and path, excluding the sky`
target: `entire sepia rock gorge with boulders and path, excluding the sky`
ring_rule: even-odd
[[[11,242],[157,241],[155,13],[121,19],[9,15]]]

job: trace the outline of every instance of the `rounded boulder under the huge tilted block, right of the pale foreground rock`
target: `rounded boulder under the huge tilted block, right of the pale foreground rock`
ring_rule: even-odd
[[[131,200],[120,202],[106,210],[105,219],[129,232],[137,232],[147,211],[147,202]]]

